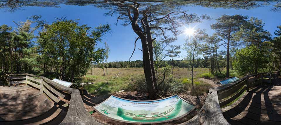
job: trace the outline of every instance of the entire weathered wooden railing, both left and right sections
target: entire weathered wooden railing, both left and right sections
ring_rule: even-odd
[[[71,94],[66,117],[60,125],[108,125],[90,116],[84,106],[80,92],[77,89],[69,88],[57,84],[46,77],[32,74],[7,74],[7,76],[10,84],[24,83],[26,85],[31,85],[40,89],[40,92],[46,93],[54,102],[62,101],[58,97],[65,98],[68,94]],[[245,76],[225,86],[211,88],[205,100],[205,104],[198,114],[189,121],[179,125],[230,125],[223,117],[220,107],[237,99],[245,90],[249,91],[249,88],[262,83],[271,83],[271,76],[269,74],[260,73]],[[62,106],[67,107],[68,103]]]

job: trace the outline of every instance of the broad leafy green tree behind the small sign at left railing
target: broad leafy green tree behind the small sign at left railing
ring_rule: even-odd
[[[97,41],[109,30],[108,24],[92,29],[74,20],[57,20],[39,33],[39,51],[59,79],[74,82],[93,62],[103,59],[104,49],[97,48]]]

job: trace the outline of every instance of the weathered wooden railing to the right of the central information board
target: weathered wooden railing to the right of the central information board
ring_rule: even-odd
[[[262,83],[271,83],[271,76],[265,73],[248,75],[230,84],[211,88],[198,114],[179,125],[230,125],[220,107],[237,99],[245,90],[249,91],[249,88]]]

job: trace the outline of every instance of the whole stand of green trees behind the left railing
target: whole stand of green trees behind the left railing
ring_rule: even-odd
[[[34,15],[14,22],[18,27],[0,26],[0,66],[6,73],[51,74],[65,81],[79,80],[90,65],[104,60],[105,49],[97,46],[110,25],[95,28],[75,20],[57,18],[52,23]],[[35,24],[35,27],[31,27]],[[38,35],[35,35],[35,31]]]

